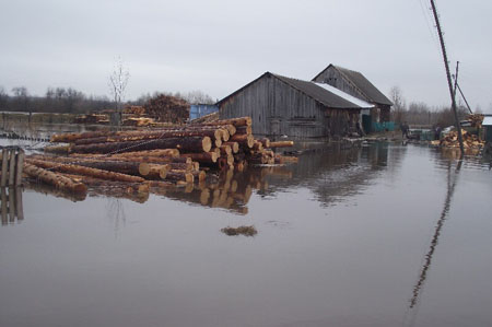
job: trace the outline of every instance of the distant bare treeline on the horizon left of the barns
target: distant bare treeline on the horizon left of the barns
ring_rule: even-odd
[[[144,105],[156,94],[173,95],[186,100],[190,104],[212,104],[214,101],[201,91],[188,93],[155,92],[143,94],[136,101],[125,104]],[[72,87],[48,87],[45,96],[31,95],[25,86],[17,86],[7,93],[0,86],[0,110],[1,112],[31,112],[31,113],[63,113],[63,114],[87,114],[107,109],[114,109],[115,102],[107,96],[85,95],[83,92]]]

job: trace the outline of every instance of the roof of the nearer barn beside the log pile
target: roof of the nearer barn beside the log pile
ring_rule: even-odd
[[[216,104],[220,105],[223,102],[225,102],[226,100],[229,100],[230,97],[236,95],[237,93],[242,92],[244,89],[248,87],[249,85],[251,85],[253,83],[255,83],[256,81],[258,81],[259,79],[263,78],[263,77],[273,77],[277,78],[278,80],[289,84],[291,87],[296,89],[297,91],[304,93],[305,95],[312,97],[313,100],[321,103],[323,105],[330,107],[330,108],[338,108],[338,109],[360,109],[360,108],[370,108],[373,107],[373,105],[368,104],[368,103],[364,103],[364,102],[355,102],[351,98],[351,96],[349,94],[344,94],[343,95],[338,95],[335,92],[330,92],[329,90],[327,90],[327,87],[325,87],[324,85],[320,86],[318,83],[315,82],[311,82],[311,81],[302,81],[302,80],[297,80],[297,79],[292,79],[292,78],[286,78],[283,75],[279,75],[279,74],[274,74],[271,72],[266,72],[262,75],[260,75],[258,79],[254,80],[253,82],[246,84],[245,86],[241,87],[239,90],[237,90],[236,92],[227,95],[226,97],[224,97],[223,100],[221,100],[220,102],[218,102]],[[341,92],[341,91],[339,91]],[[339,93],[337,92],[337,93]],[[343,93],[343,92],[341,92]],[[352,100],[352,101],[351,101]]]

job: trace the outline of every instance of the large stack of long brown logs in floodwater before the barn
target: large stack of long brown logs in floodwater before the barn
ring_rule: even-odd
[[[271,149],[292,141],[256,140],[249,117],[152,130],[92,131],[51,137],[44,155],[25,159],[24,173],[60,189],[85,192],[89,186],[113,183],[129,192],[168,183],[203,183],[211,171],[243,171],[248,164],[296,159]],[[55,155],[63,153],[65,155]],[[117,187],[116,187],[117,188]]]

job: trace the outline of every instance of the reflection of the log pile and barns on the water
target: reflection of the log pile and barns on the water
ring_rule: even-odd
[[[261,197],[276,198],[278,192],[307,187],[323,206],[328,206],[356,195],[370,185],[371,179],[388,170],[388,144],[383,143],[350,150],[329,148],[301,156],[298,164],[248,167],[243,172],[230,170],[216,176],[210,173],[214,176],[209,178],[210,180],[186,187],[163,185],[141,190],[125,183],[104,180],[99,185],[91,186],[89,196],[121,198],[144,203],[149,200],[149,195],[154,194],[190,205],[247,214],[247,205],[254,191]],[[398,165],[399,157],[401,153],[394,160],[393,170]],[[26,187],[71,201],[82,201],[86,198],[85,195],[36,184],[36,180],[31,180]]]

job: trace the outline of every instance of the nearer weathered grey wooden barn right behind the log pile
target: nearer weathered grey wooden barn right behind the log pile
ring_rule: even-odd
[[[356,132],[373,107],[335,87],[266,72],[216,104],[221,118],[250,116],[253,133],[323,138]]]

